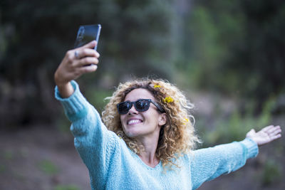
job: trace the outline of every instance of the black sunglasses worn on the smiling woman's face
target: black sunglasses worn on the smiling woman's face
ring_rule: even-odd
[[[138,112],[145,112],[150,108],[150,102],[152,102],[152,104],[154,104],[160,112],[165,112],[165,110],[163,110],[163,108],[159,104],[157,104],[157,102],[153,102],[150,99],[140,99],[135,102],[120,102],[118,103],[117,108],[120,115],[128,113],[133,105],[135,105],[135,110],[137,110]]]

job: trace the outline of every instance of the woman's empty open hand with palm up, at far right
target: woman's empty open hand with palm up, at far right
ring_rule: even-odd
[[[269,125],[267,127],[264,127],[259,132],[255,132],[255,130],[250,130],[249,132],[247,132],[247,137],[253,139],[254,142],[257,142],[257,145],[261,146],[280,138],[281,127]]]

